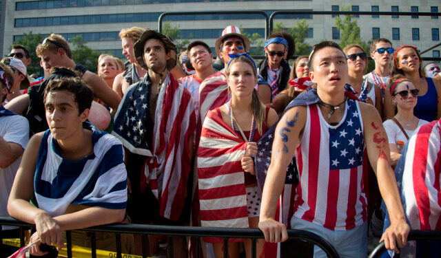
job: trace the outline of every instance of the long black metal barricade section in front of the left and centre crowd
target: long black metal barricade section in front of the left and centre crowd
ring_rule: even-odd
[[[20,228],[29,228],[34,225],[20,222],[11,217],[0,217],[0,225],[19,226]],[[157,225],[140,225],[140,224],[112,224],[105,226],[94,226],[87,228],[91,232],[91,250],[92,258],[96,258],[96,232],[107,232],[116,234],[116,253],[117,257],[121,257],[121,233],[140,234],[142,235],[142,256],[147,257],[147,248],[145,246],[145,239],[147,235],[167,235],[167,238],[172,239],[172,236],[192,236],[196,237],[196,248],[198,250],[196,257],[201,257],[201,237],[221,237],[224,243],[228,243],[229,238],[248,238],[252,239],[252,257],[256,257],[256,241],[263,238],[263,233],[257,228],[207,228],[196,226],[157,226]],[[23,231],[23,230],[21,230]],[[296,239],[306,241],[320,247],[328,257],[338,258],[338,253],[331,244],[324,238],[304,230],[288,230],[289,239]],[[66,241],[68,249],[68,257],[72,257],[72,238],[70,231],[66,232]],[[1,243],[0,243],[1,244]],[[170,241],[169,241],[170,244]],[[21,234],[20,245],[24,245],[24,237]],[[172,243],[170,244],[172,246]],[[172,250],[172,248],[168,248]],[[167,252],[169,258],[173,257],[173,252]],[[228,257],[228,245],[224,248],[224,257]]]

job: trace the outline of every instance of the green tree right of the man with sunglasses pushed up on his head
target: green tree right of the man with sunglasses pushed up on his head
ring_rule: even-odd
[[[99,53],[96,50],[85,45],[86,41],[83,41],[81,36],[74,36],[70,39],[70,49],[72,50],[72,56],[74,56],[75,63],[84,65],[90,72],[96,73],[98,67]]]

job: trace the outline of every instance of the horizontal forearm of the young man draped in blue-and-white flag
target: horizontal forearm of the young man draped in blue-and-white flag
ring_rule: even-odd
[[[90,207],[74,213],[54,217],[62,230],[89,228],[104,224],[122,222],[125,208],[114,210],[110,208]]]

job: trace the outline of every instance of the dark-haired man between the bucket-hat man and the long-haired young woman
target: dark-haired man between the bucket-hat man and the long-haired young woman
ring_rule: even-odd
[[[205,78],[214,74],[212,65],[213,54],[209,46],[203,41],[193,41],[189,43],[187,53],[195,73],[179,78],[178,81],[192,94],[194,99],[194,111],[197,117],[199,110],[199,86]]]

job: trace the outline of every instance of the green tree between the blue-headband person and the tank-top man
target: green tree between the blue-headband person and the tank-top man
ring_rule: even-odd
[[[311,52],[311,46],[305,43],[305,39],[308,35],[309,25],[305,20],[296,21],[296,26],[291,28],[286,28],[282,22],[278,22],[274,25],[274,31],[280,32],[286,30],[294,38],[294,43],[296,44],[296,51],[294,54],[302,55],[309,54]]]

